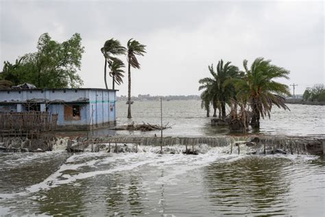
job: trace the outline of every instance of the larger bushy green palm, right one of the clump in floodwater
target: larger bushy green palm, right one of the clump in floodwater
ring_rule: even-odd
[[[289,79],[289,71],[282,67],[271,64],[271,60],[256,58],[250,69],[248,60],[243,60],[245,78],[237,80],[235,87],[238,90],[237,98],[245,99],[252,109],[252,119],[250,125],[253,128],[260,127],[261,117],[268,115],[272,105],[282,109],[289,109],[285,104],[285,98],[281,95],[290,95],[289,87],[275,78]]]

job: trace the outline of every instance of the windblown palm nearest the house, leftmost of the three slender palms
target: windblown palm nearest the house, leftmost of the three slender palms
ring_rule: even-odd
[[[119,58],[116,58],[114,55],[120,55],[125,54],[126,49],[121,45],[121,43],[118,40],[115,40],[114,38],[110,38],[110,40],[106,41],[104,43],[104,46],[101,47],[101,53],[104,55],[105,58],[105,65],[104,65],[104,82],[106,89],[108,89],[107,86],[107,80],[106,80],[106,69],[107,69],[107,63],[112,64],[112,61],[117,60],[122,62],[122,60],[119,60]]]

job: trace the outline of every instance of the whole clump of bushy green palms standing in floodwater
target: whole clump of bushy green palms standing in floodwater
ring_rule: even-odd
[[[285,95],[290,95],[289,87],[275,78],[289,78],[289,71],[271,64],[271,60],[256,58],[248,66],[248,60],[243,60],[244,71],[231,62],[220,60],[216,69],[208,66],[211,76],[199,80],[202,109],[206,116],[210,116],[210,107],[213,108],[213,117],[217,117],[226,124],[236,126],[246,131],[248,125],[252,128],[260,127],[260,119],[270,117],[272,106],[289,109],[285,104]],[[226,105],[230,113],[226,113]]]

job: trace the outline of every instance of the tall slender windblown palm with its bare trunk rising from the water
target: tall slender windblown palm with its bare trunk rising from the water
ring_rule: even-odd
[[[139,41],[131,38],[127,45],[127,58],[128,58],[128,118],[131,115],[131,67],[140,69],[140,63],[136,59],[136,55],[143,56],[145,52],[145,45],[141,45]]]

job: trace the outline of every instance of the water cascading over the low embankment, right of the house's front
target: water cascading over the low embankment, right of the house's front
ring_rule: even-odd
[[[257,139],[257,140],[256,140]],[[200,154],[204,147],[228,147],[227,153],[245,155],[308,154],[309,142],[278,137],[108,137],[72,144],[71,152],[140,152],[146,146],[164,153]],[[177,148],[176,148],[177,147]],[[203,151],[204,152],[204,151]]]

